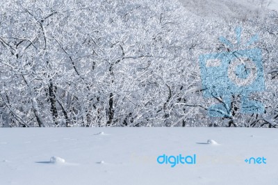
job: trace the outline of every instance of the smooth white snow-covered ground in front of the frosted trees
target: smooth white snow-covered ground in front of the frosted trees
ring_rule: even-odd
[[[196,164],[171,168],[162,154],[196,154]],[[246,163],[252,156],[266,164]],[[277,156],[277,129],[0,129],[0,184],[270,185]]]

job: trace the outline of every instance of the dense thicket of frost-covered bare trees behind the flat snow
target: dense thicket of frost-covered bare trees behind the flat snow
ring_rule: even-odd
[[[200,17],[177,0],[13,0],[0,7],[4,127],[276,127],[277,13]],[[199,56],[259,35],[265,113],[209,118]]]

